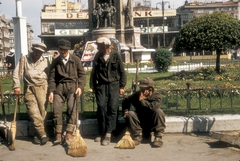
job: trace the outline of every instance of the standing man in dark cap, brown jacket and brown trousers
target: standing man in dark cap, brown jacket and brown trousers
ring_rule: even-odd
[[[58,41],[59,56],[53,60],[49,75],[49,102],[53,103],[54,145],[63,141],[71,144],[72,134],[77,123],[77,102],[86,85],[86,74],[79,57],[69,53],[71,42]],[[67,102],[67,127],[63,130],[62,108]],[[63,133],[66,131],[65,138]]]

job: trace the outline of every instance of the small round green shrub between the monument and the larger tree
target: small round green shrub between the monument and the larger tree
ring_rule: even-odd
[[[172,64],[172,53],[167,49],[157,49],[152,54],[152,60],[158,72],[167,72]]]

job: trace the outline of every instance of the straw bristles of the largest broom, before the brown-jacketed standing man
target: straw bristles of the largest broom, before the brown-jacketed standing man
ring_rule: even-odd
[[[75,135],[68,146],[68,155],[72,157],[85,157],[87,155],[87,145],[77,129]]]

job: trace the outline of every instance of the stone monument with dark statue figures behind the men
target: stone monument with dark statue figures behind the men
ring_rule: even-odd
[[[88,0],[88,6],[89,33],[85,39],[115,38],[125,63],[142,60],[147,49],[141,45],[140,28],[133,25],[133,0]],[[150,59],[148,55],[146,59]]]

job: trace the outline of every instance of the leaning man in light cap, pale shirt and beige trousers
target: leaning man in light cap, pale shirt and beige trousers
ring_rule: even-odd
[[[44,145],[47,137],[44,120],[46,117],[45,103],[48,88],[49,62],[42,54],[47,49],[44,43],[32,44],[32,52],[21,55],[13,72],[14,94],[20,94],[20,79],[24,80],[24,98],[28,115],[35,128],[34,143]],[[22,75],[23,74],[23,75]]]

